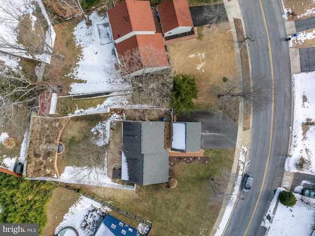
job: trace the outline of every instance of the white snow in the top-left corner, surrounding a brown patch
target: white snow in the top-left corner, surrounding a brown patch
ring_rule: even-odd
[[[18,35],[17,35],[17,27],[20,23],[18,18],[23,18],[25,15],[30,15],[30,20],[32,21],[32,29],[34,27],[36,16],[33,14],[33,9],[36,7],[35,2],[40,7],[43,16],[45,17],[48,25],[48,29],[46,31],[46,39],[45,42],[50,47],[54,46],[54,41],[56,37],[56,33],[54,28],[49,20],[49,17],[46,13],[46,10],[41,2],[41,0],[0,0],[0,37],[10,45],[16,45],[17,47],[0,47],[0,51],[9,53],[12,55],[35,59],[39,61],[44,61],[46,63],[50,63],[51,55],[50,53],[42,53],[40,55],[30,55],[26,53],[26,50],[23,48],[27,48],[25,45],[18,43]],[[3,8],[3,9],[2,9]],[[5,9],[5,10],[4,10]],[[45,45],[43,45],[44,50],[49,52]],[[22,48],[22,49],[19,49]]]

